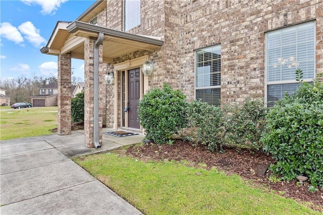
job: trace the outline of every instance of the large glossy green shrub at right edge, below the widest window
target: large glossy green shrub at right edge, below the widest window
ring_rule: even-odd
[[[304,175],[314,187],[323,187],[323,84],[301,78],[298,70],[295,94],[286,94],[268,112],[261,142],[278,160],[270,167],[275,174],[287,181]]]

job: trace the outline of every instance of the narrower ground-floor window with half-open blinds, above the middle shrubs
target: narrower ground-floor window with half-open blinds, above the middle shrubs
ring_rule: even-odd
[[[221,45],[195,51],[195,99],[220,105]]]

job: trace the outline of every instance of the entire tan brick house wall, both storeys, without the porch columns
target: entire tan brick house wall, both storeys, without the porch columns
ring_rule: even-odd
[[[153,51],[122,56],[114,64],[149,55],[154,62],[149,88],[167,82],[193,100],[194,50],[221,44],[221,104],[241,104],[247,97],[264,97],[265,32],[308,20],[316,20],[319,73],[323,72],[322,1],[141,0],[141,24],[128,32],[159,36],[164,45]],[[123,1],[107,1],[106,11],[98,16],[98,25],[123,30]],[[113,99],[113,90],[106,88],[107,101]],[[108,126],[113,124],[112,106],[106,106]]]

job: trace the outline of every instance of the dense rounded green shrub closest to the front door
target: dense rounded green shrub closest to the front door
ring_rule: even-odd
[[[139,120],[146,138],[155,143],[172,144],[172,136],[186,127],[186,96],[164,83],[163,88],[149,90],[139,101]]]

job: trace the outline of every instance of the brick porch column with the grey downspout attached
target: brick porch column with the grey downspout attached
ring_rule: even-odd
[[[86,38],[84,41],[84,143],[86,147],[94,147],[93,137],[93,95],[94,95],[94,44],[97,38]],[[99,143],[102,144],[103,113],[103,64],[102,45],[99,47]]]

